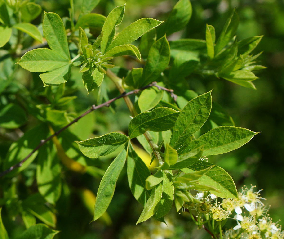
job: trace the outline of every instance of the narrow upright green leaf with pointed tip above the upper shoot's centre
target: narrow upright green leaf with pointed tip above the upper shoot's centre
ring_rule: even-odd
[[[106,17],[103,25],[103,38],[101,41],[101,52],[105,53],[115,35],[115,28],[120,25],[124,16],[125,4],[114,8]],[[121,44],[122,45],[122,44]]]

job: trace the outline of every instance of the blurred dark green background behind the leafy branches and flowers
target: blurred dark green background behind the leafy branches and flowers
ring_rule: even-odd
[[[68,16],[68,0],[35,2],[39,3],[46,12],[55,12],[61,17]],[[123,29],[142,17],[164,20],[176,2],[173,0],[128,0],[125,17],[120,28]],[[75,13],[77,16],[80,11],[80,3],[80,0],[75,1],[75,9],[78,10]],[[124,3],[123,0],[102,0],[94,12],[107,15],[114,7]],[[233,8],[236,8],[240,17],[240,25],[237,30],[238,40],[255,35],[264,35],[254,51],[254,53],[264,51],[259,57],[259,61],[261,65],[267,67],[266,70],[256,73],[260,77],[254,82],[257,90],[243,88],[215,77],[201,78],[194,74],[187,78],[187,82],[190,88],[199,94],[213,89],[213,100],[221,104],[230,113],[236,126],[261,132],[240,149],[222,156],[211,156],[208,161],[214,162],[227,170],[235,180],[239,190],[244,184],[247,186],[256,185],[258,189],[263,188],[262,196],[267,198],[267,203],[271,205],[271,217],[275,221],[284,220],[284,2],[281,0],[195,0],[191,3],[193,15],[187,28],[173,34],[169,37],[169,40],[179,38],[205,39],[206,23],[215,27],[218,36]],[[42,18],[43,14],[32,23],[40,24]],[[116,63],[124,65],[123,59]],[[130,69],[133,64],[127,62],[128,68]],[[17,79],[28,88],[42,91],[42,82],[38,75],[37,73],[31,75],[31,73],[20,69]],[[71,106],[77,112],[87,109],[97,96],[97,92],[92,92],[87,96],[80,79],[80,76],[74,71],[71,80],[67,83],[73,84],[74,87],[79,89],[76,93],[78,98]],[[112,94],[117,92],[111,84],[109,87],[111,88],[109,96],[112,97]],[[116,130],[127,131],[130,121],[128,109],[122,100],[117,101],[114,107],[116,107],[118,113],[114,114],[111,109],[103,109],[86,117],[73,130],[80,131],[82,139]],[[34,125],[31,119],[29,124],[23,126],[21,130],[25,132],[32,127]],[[1,156],[3,156],[9,148],[10,142],[2,140],[1,144]],[[98,161],[98,166],[107,167],[110,161],[111,158],[101,159]],[[66,181],[74,187],[74,192],[78,188],[89,188],[93,192],[97,192],[99,185],[99,180],[89,175],[79,177],[67,173]],[[194,230],[192,232],[191,227],[193,225],[189,223],[191,220],[187,215],[178,215],[174,211],[168,217],[169,227],[167,229],[159,223],[154,224],[153,221],[135,227],[141,206],[133,200],[125,171],[118,179],[114,198],[108,208],[108,213],[113,221],[111,227],[100,222],[88,224],[92,216],[82,204],[78,194],[74,192],[71,193],[72,200],[70,200],[69,205],[62,204],[61,207],[58,207],[60,208],[60,216],[57,218],[57,230],[61,230],[61,232],[57,235],[57,238],[150,238],[147,237],[147,233],[152,234],[151,238],[158,238],[155,235],[177,239],[202,238],[204,236],[203,231]],[[20,219],[11,221],[5,215],[3,217],[11,238],[14,238],[19,231],[24,230],[24,225]],[[283,225],[283,222],[280,222],[280,224]],[[175,226],[175,229],[173,226]],[[206,235],[206,237],[208,236]]]

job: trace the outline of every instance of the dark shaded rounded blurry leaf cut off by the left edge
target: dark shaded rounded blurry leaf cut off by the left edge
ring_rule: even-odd
[[[10,103],[0,110],[0,127],[2,128],[19,128],[26,121],[26,112],[18,105]]]

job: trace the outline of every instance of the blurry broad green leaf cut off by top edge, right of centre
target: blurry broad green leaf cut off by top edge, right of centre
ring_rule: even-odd
[[[164,34],[169,36],[185,28],[191,18],[191,14],[192,7],[190,1],[178,1],[165,22],[157,28],[157,37],[160,38]]]

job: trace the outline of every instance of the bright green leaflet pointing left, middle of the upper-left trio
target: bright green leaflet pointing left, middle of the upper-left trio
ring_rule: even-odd
[[[43,72],[69,65],[69,61],[56,51],[38,48],[25,53],[18,64],[31,72]]]

